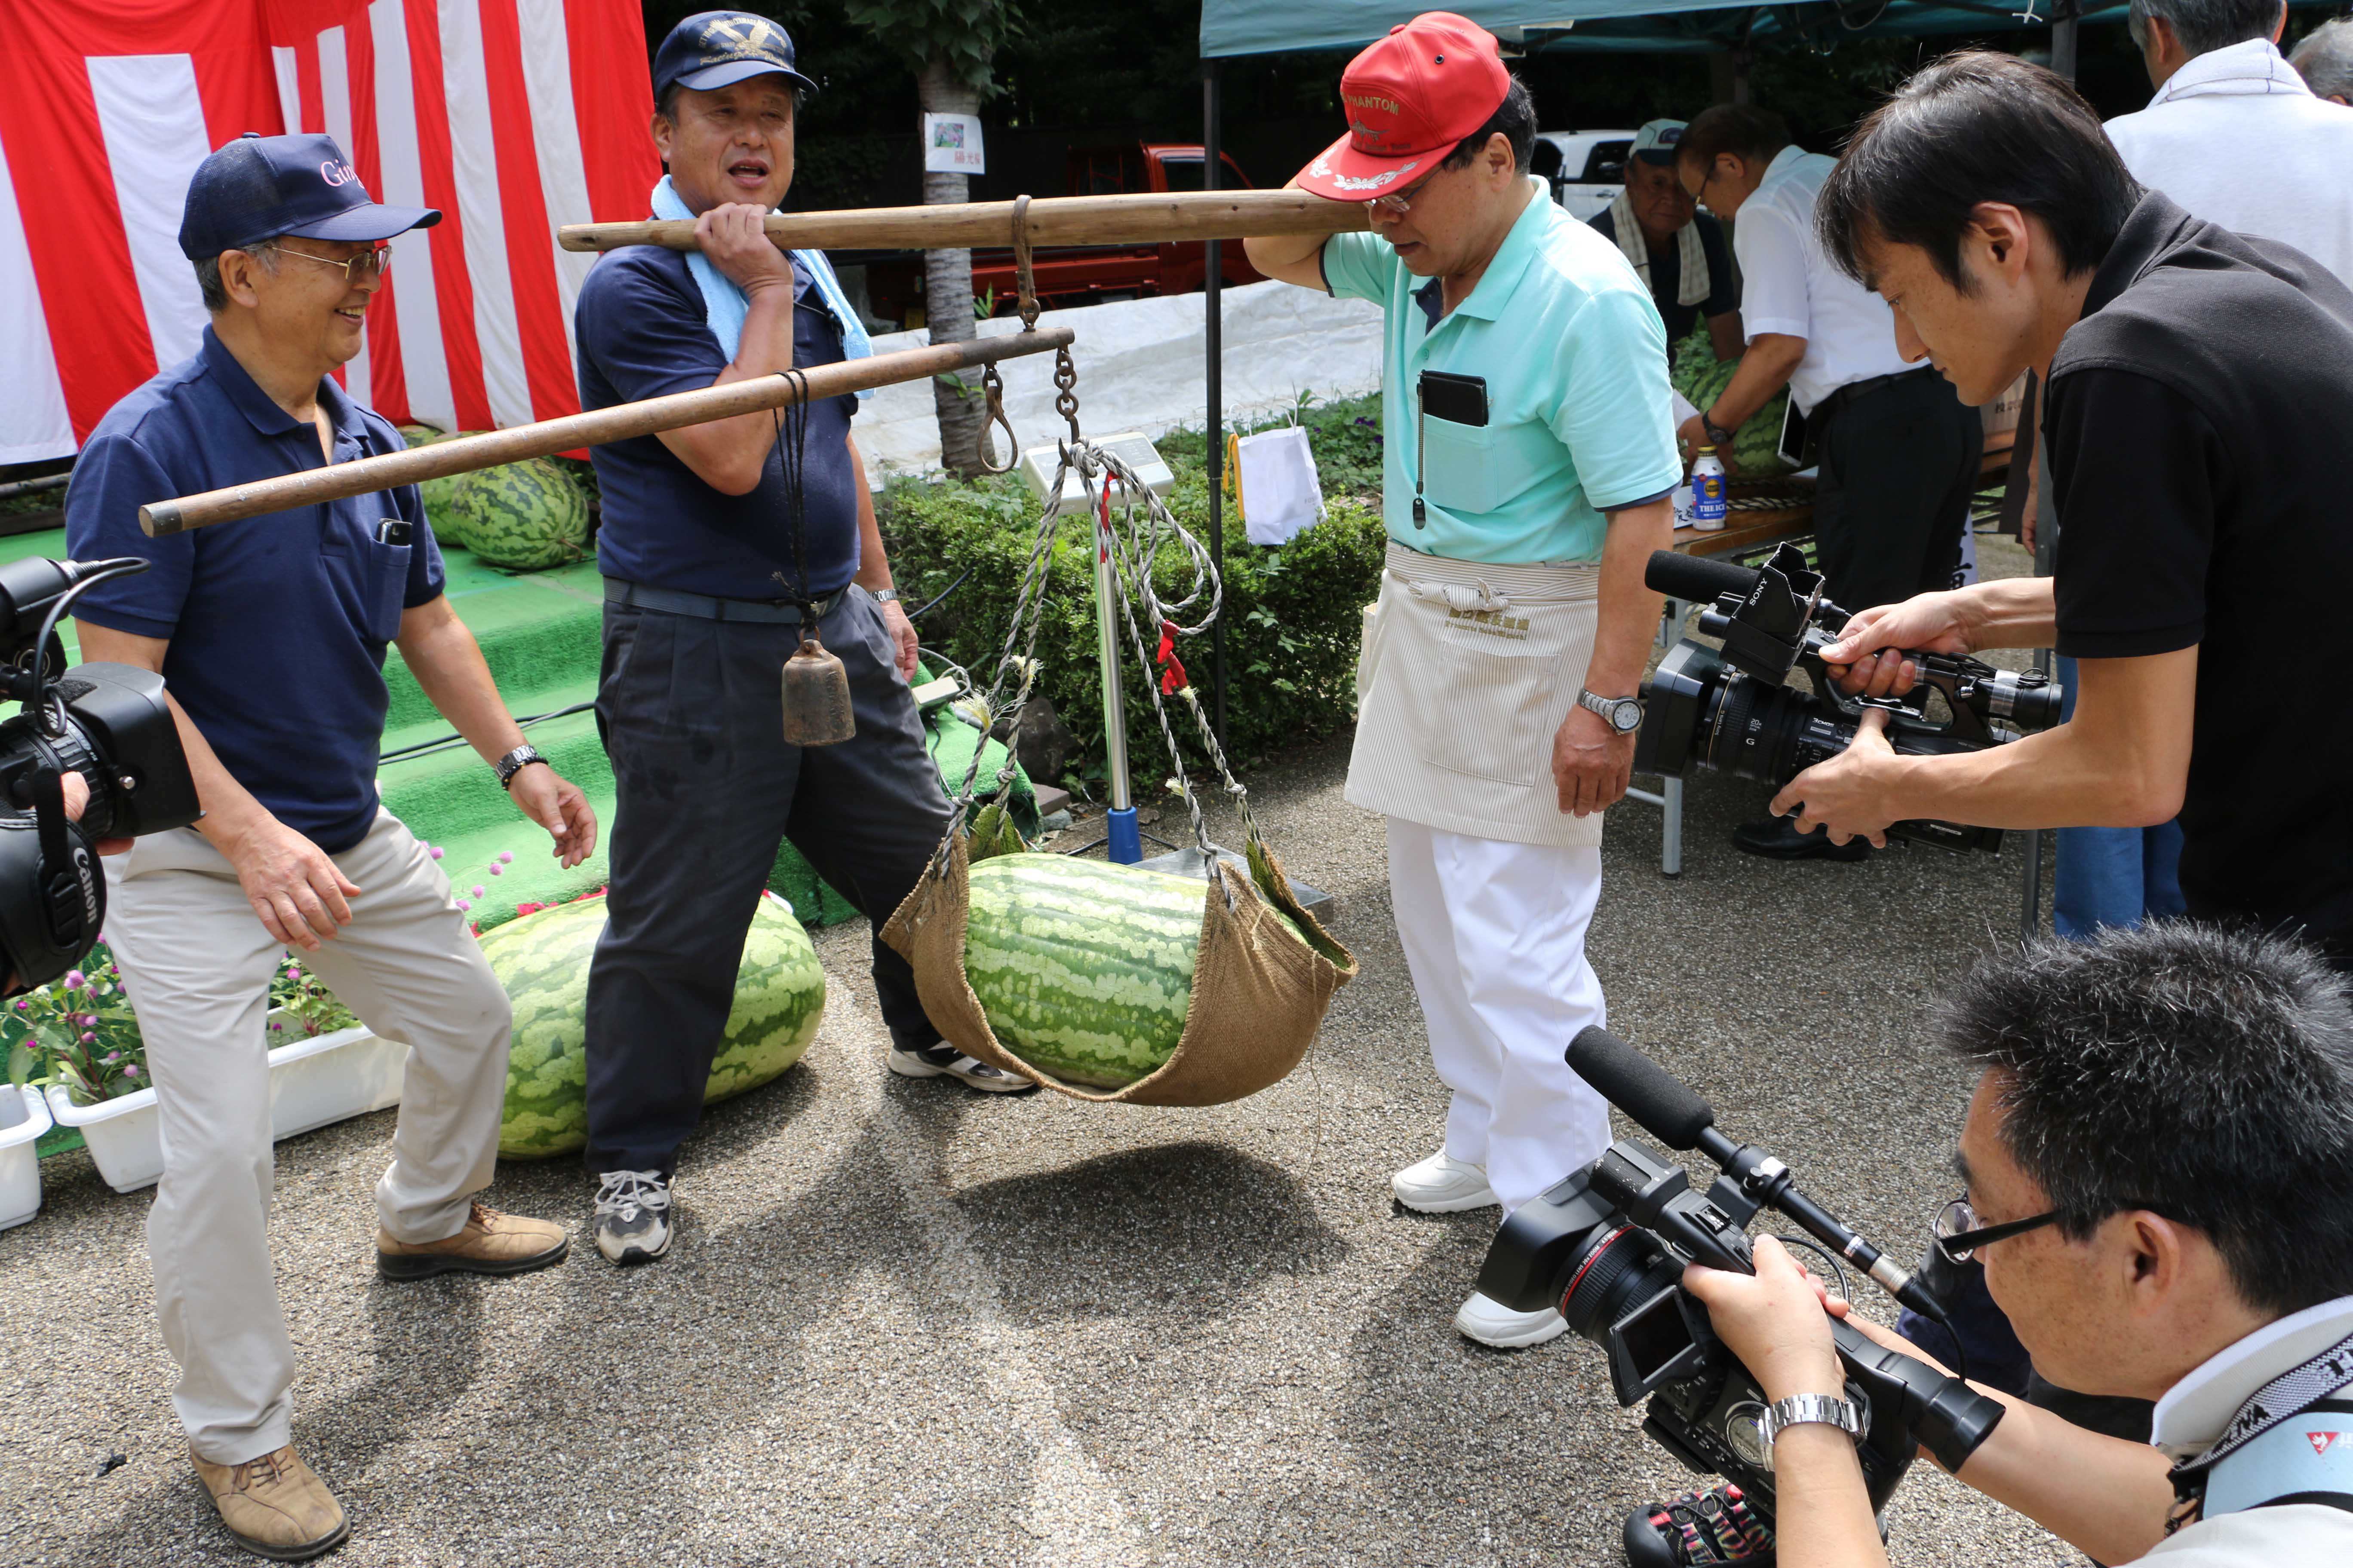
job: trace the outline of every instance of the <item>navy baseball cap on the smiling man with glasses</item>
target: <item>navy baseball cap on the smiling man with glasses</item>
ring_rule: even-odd
[[[435,223],[433,207],[374,202],[334,136],[245,132],[195,165],[179,249],[188,261],[209,261],[280,235],[374,242]]]

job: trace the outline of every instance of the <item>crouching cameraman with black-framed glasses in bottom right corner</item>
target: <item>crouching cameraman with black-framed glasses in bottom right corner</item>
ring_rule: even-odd
[[[2005,1403],[1960,1481],[2101,1563],[2353,1563],[2353,1001],[2306,945],[2198,924],[1986,959],[1937,1032],[1979,1070],[1937,1244],[1979,1260],[2035,1366],[2155,1399],[2153,1446]],[[1772,1239],[1692,1267],[1772,1401],[1786,1563],[1887,1563],[1831,1314]],[[1819,1399],[1807,1399],[1819,1396]],[[1807,1413],[1812,1410],[1812,1413]]]

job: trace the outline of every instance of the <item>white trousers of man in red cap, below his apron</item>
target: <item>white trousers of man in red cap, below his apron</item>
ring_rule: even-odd
[[[1602,851],[1475,839],[1388,818],[1388,900],[1454,1091],[1447,1154],[1487,1166],[1511,1213],[1609,1147],[1609,1107],[1565,1060],[1605,1023],[1586,961]]]

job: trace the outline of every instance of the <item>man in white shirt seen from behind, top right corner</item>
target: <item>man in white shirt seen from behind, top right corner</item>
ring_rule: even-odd
[[[2353,287],[2353,115],[2280,59],[2280,0],[2132,0],[2148,108],[2108,120],[2132,179],[2193,219],[2294,244]]]

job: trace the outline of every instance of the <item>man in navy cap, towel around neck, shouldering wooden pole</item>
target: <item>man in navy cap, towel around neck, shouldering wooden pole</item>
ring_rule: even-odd
[[[701,249],[616,249],[574,315],[581,407],[812,369],[868,350],[824,252],[762,221],[793,183],[793,120],[814,92],[784,28],[687,16],[654,54],[656,219]],[[598,726],[619,809],[605,936],[588,976],[588,1152],[612,1262],[671,1246],[678,1145],[701,1117],[744,933],[781,839],[880,929],[939,846],[948,802],[906,677],[915,628],[892,588],[854,397],[744,414],[595,449],[605,520]],[[786,461],[791,456],[791,463]],[[784,743],[784,661],[816,616],[849,675],[856,736]],[[875,940],[889,1070],[1019,1091],[941,1044],[906,959]]]

